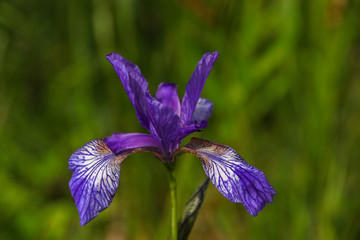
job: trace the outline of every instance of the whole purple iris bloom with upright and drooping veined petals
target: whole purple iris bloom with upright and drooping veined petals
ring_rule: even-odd
[[[171,163],[184,152],[196,155],[214,186],[232,202],[244,204],[256,216],[276,194],[264,173],[249,165],[232,148],[192,138],[179,148],[190,133],[207,126],[213,104],[200,98],[205,81],[218,58],[218,52],[206,53],[196,66],[180,102],[173,83],[161,83],[155,97],[140,69],[117,53],[106,58],[113,65],[133,104],[140,124],[150,134],[114,133],[90,141],[69,159],[73,172],[69,187],[83,226],[106,209],[119,183],[124,159],[136,152],[152,152],[164,163]]]

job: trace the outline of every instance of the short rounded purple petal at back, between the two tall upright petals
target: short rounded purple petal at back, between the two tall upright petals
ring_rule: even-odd
[[[180,100],[174,83],[160,83],[156,92],[156,99],[165,106],[173,109],[180,116]]]

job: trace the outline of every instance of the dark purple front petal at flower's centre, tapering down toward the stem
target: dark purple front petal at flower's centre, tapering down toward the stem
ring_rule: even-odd
[[[165,157],[169,158],[173,148],[177,147],[180,119],[173,109],[151,96],[147,97],[147,109],[153,127],[152,134],[156,133],[162,143]]]

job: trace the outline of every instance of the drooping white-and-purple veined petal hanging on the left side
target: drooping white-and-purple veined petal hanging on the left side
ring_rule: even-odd
[[[74,152],[69,159],[73,172],[69,188],[84,226],[109,207],[118,188],[123,160],[136,152],[151,148],[135,148],[115,155],[103,140],[93,140]]]

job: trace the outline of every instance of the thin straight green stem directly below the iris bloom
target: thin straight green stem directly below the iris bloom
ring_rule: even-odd
[[[175,164],[166,164],[168,169],[168,179],[171,194],[171,239],[177,240],[178,223],[177,223],[177,197],[176,197],[176,177]]]

